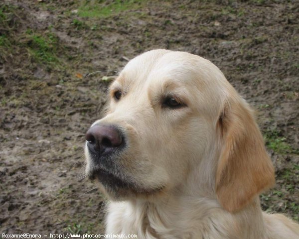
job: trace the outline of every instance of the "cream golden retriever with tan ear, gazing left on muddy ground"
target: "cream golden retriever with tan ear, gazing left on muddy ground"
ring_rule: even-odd
[[[210,61],[152,50],[110,86],[86,133],[86,173],[108,197],[106,233],[139,239],[299,239],[262,212],[274,168],[250,106]]]

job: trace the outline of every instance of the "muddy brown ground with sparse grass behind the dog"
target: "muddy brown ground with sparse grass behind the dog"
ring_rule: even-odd
[[[103,232],[83,146],[113,74],[84,76],[154,48],[211,60],[259,111],[277,180],[262,208],[299,221],[298,0],[2,0],[1,234]]]

